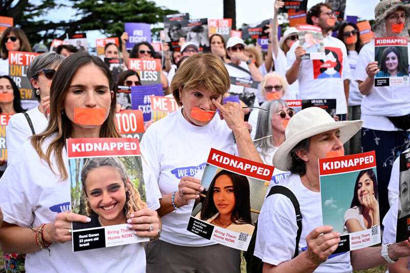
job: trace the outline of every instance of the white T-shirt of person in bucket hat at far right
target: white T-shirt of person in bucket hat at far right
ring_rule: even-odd
[[[410,44],[407,44],[407,46]],[[410,48],[410,47],[409,47]],[[409,49],[408,49],[409,50]],[[409,54],[410,58],[410,54]],[[366,67],[375,60],[375,42],[362,47],[357,59],[356,80],[367,78]],[[373,87],[363,96],[361,119],[363,128],[381,131],[399,131],[387,116],[402,116],[410,112],[410,87]]]

